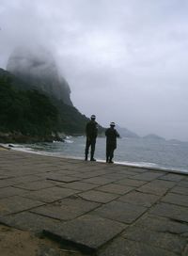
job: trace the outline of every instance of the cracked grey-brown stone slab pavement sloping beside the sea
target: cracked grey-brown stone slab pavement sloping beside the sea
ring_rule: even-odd
[[[1,150],[0,222],[87,255],[187,256],[188,175]]]

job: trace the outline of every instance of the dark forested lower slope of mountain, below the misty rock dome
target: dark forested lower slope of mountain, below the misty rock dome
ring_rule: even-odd
[[[66,104],[65,95],[56,97],[45,88],[46,76],[44,81],[40,77],[44,89],[38,76],[38,87],[34,87],[35,78],[26,80],[21,72],[15,75],[0,69],[0,142],[53,141],[60,140],[60,134],[84,135],[88,118],[72,105],[70,90]],[[100,126],[99,133],[102,131]]]

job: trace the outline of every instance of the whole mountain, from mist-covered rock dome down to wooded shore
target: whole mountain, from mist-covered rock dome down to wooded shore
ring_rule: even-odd
[[[51,53],[19,47],[7,67],[0,69],[1,141],[51,141],[85,134],[89,119],[72,104],[71,88]]]

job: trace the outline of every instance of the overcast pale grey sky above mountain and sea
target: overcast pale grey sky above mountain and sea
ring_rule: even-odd
[[[187,13],[186,0],[0,0],[0,68],[42,45],[87,117],[188,141]]]

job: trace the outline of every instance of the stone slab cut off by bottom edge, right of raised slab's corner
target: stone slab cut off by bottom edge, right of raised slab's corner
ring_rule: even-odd
[[[98,256],[177,256],[177,254],[119,237],[106,248],[102,248]]]

